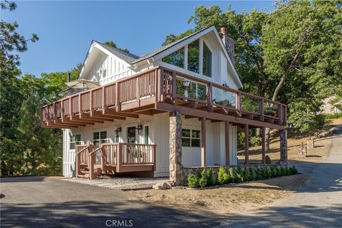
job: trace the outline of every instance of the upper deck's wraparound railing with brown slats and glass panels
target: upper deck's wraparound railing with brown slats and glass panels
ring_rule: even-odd
[[[70,115],[103,108],[122,111],[155,102],[185,100],[237,113],[258,115],[259,120],[274,119],[286,124],[286,105],[244,93],[201,78],[163,67],[151,68],[129,78],[86,90],[41,108],[41,121],[63,119]]]

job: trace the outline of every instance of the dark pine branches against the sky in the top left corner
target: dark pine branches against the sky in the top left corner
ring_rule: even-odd
[[[13,11],[16,9],[16,4],[10,1],[2,1],[0,3],[1,10],[9,9]],[[19,55],[13,52],[24,52],[27,50],[27,42],[38,41],[37,34],[33,33],[31,38],[25,38],[16,32],[19,25],[14,21],[7,23],[0,21],[0,68],[1,70],[14,71],[16,66],[20,65]]]

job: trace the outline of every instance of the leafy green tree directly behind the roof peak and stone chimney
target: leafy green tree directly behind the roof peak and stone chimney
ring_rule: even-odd
[[[264,96],[269,89],[269,75],[264,72],[264,60],[261,48],[261,28],[266,22],[266,11],[253,9],[237,14],[231,6],[222,12],[219,6],[198,6],[194,16],[190,16],[188,23],[195,22],[195,29],[190,29],[179,35],[167,35],[163,46],[189,36],[195,31],[214,24],[219,31],[223,25],[227,26],[229,35],[234,38],[235,67],[244,90]]]

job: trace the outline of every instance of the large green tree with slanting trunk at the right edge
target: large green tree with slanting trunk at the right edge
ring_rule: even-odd
[[[321,122],[321,100],[341,90],[341,2],[276,6],[262,29],[265,71],[274,77],[272,100],[289,103],[289,121],[304,131]]]

